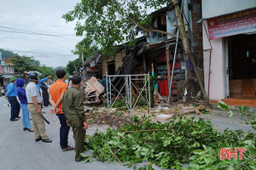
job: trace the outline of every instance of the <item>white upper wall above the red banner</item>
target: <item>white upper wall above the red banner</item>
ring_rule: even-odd
[[[201,3],[204,19],[256,8],[256,0],[202,0]]]

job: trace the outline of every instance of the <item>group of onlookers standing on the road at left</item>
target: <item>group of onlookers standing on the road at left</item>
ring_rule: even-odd
[[[72,87],[67,89],[68,86],[67,83],[65,83],[66,71],[59,70],[55,73],[57,80],[49,88],[49,105],[53,106],[49,113],[51,115],[55,114],[60,120],[61,150],[75,150],[75,161],[81,161],[82,156],[80,156],[80,153],[84,151],[85,130],[89,126],[84,115],[83,94],[79,90],[82,78],[76,75],[73,76],[71,78]],[[17,118],[20,118],[19,113],[21,107],[23,129],[33,132],[36,142],[42,140],[45,143],[51,143],[52,140],[49,139],[45,130],[44,116],[42,115],[41,109],[43,97],[38,88],[38,84],[45,80],[43,79],[39,81],[37,71],[27,72],[26,78],[29,82],[26,85],[26,89],[22,88],[25,85],[26,80],[21,78],[17,79],[16,77],[10,78],[8,91],[6,93],[9,103],[11,104],[10,121],[17,121]],[[46,80],[47,78],[49,77],[46,77]],[[44,85],[41,85],[41,88],[46,89],[48,94],[47,86],[44,87]],[[44,96],[47,96],[47,94]],[[20,104],[16,98],[17,95],[19,97]],[[33,129],[29,122],[29,113],[32,116]],[[69,146],[67,141],[70,126],[73,127],[75,147]]]

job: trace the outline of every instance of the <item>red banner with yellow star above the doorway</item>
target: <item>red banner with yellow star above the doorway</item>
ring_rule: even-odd
[[[207,20],[210,40],[256,31],[256,8]]]

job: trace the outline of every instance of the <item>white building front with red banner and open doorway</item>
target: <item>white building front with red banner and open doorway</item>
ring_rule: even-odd
[[[256,1],[203,0],[201,6],[209,99],[256,106]]]

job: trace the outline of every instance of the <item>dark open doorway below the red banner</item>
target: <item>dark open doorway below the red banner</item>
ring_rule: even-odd
[[[256,34],[228,38],[230,98],[256,99]]]

